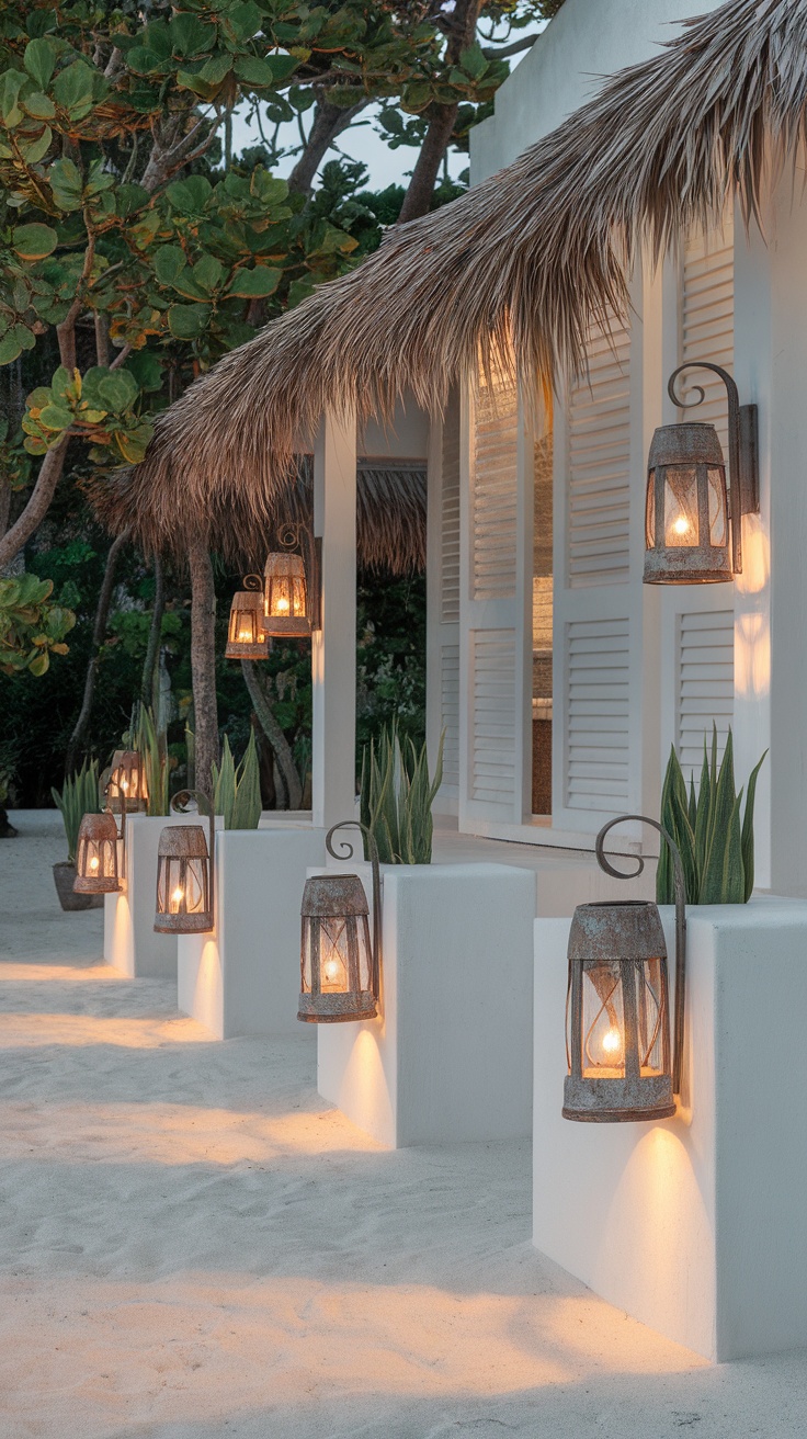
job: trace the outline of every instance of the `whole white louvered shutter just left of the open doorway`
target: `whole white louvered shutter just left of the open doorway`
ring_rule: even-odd
[[[480,374],[469,400],[463,563],[460,817],[521,823],[525,810],[525,437],[515,384]],[[531,617],[531,616],[529,616]],[[529,640],[531,645],[531,640]]]

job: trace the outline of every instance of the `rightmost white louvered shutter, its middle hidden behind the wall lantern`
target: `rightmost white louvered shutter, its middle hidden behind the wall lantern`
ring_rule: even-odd
[[[679,266],[679,364],[709,360],[734,371],[734,227],[731,214],[721,230],[696,233],[683,248]],[[715,426],[728,462],[726,394],[718,376],[693,370],[682,377],[685,390],[699,384],[705,400],[676,417]],[[683,771],[703,758],[703,734],[711,744],[712,722],[718,750],[725,748],[734,717],[734,586],[688,584],[665,591],[662,616],[662,761],[675,744]]]

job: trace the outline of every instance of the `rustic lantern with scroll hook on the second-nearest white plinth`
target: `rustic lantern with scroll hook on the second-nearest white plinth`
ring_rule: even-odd
[[[334,859],[352,858],[342,840],[342,855],[331,845],[337,829],[357,825],[367,836],[373,865],[373,938],[364,885],[358,875],[316,875],[302,895],[301,996],[298,1019],[306,1025],[338,1025],[374,1019],[378,1000],[381,945],[381,873],[378,849],[358,820],[334,825],[325,846]],[[344,853],[347,850],[347,853]]]

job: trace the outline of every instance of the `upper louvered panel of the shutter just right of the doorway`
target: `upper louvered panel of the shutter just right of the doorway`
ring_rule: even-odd
[[[567,406],[567,583],[623,584],[630,564],[630,334],[588,344]]]

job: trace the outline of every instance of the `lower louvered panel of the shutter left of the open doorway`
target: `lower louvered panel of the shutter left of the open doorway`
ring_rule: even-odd
[[[515,799],[515,630],[472,630],[470,794]]]

